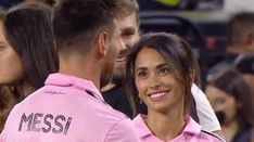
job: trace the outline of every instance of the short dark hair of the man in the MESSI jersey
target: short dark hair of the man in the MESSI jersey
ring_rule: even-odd
[[[112,33],[117,0],[63,0],[55,9],[53,30],[60,52],[86,53],[101,31]]]

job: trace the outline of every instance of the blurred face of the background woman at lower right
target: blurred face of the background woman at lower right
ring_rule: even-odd
[[[232,95],[213,86],[207,86],[205,93],[215,113],[223,112],[225,114],[223,126],[228,126],[236,120],[237,109],[240,105]]]

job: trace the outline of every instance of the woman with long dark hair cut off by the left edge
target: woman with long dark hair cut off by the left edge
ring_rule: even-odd
[[[0,98],[5,109],[0,113],[1,130],[14,104],[58,69],[51,10],[36,3],[11,9],[0,20],[0,86],[5,86]]]

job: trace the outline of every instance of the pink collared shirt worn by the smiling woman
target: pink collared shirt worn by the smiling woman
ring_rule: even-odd
[[[144,122],[147,116],[138,115],[132,122],[135,124],[140,142],[165,142],[156,135],[148,128]],[[212,133],[206,133],[201,131],[201,126],[196,124],[191,117],[186,118],[186,127],[183,131],[177,135],[175,139],[168,142],[224,142],[223,139],[218,138],[217,135],[212,135]]]

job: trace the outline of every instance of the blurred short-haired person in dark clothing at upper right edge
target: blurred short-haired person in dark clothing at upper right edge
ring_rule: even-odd
[[[241,12],[228,23],[228,47],[221,62],[209,68],[207,81],[228,68],[254,74],[254,13]]]

